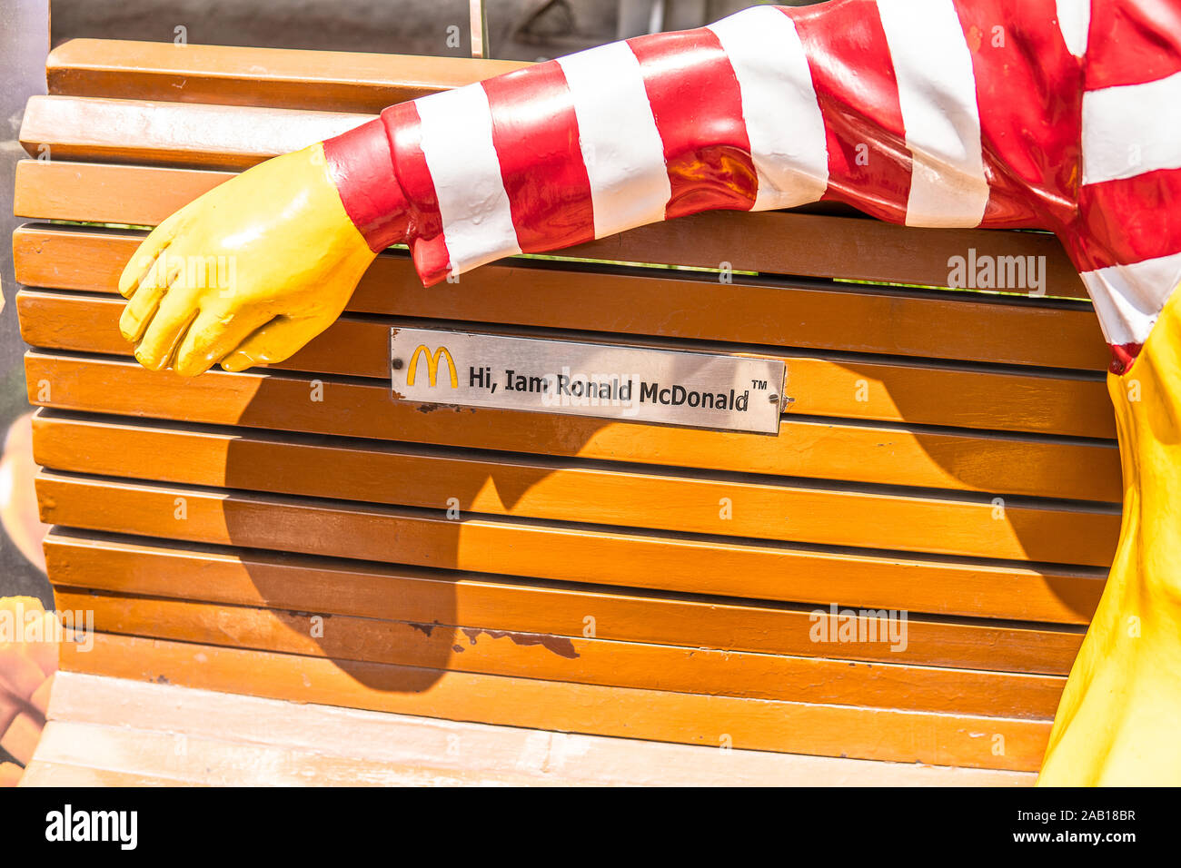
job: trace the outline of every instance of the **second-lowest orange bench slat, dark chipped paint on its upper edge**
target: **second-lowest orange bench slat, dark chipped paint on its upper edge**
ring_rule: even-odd
[[[56,589],[63,612],[93,612],[103,633],[615,687],[1050,720],[1065,678],[712,651],[350,615],[227,607]],[[87,614],[89,618],[89,614]],[[900,627],[901,622],[895,622]],[[894,644],[903,639],[898,634]],[[888,640],[887,640],[888,644]]]

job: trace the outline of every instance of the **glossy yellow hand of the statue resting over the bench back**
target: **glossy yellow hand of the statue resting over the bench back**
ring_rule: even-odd
[[[340,315],[373,257],[315,144],[156,227],[119,279],[119,329],[144,367],[187,377],[282,361]]]

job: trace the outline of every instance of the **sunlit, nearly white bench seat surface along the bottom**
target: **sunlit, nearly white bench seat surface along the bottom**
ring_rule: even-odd
[[[1035,779],[456,723],[74,672],[58,673],[48,717],[34,763],[177,783],[1022,787]]]

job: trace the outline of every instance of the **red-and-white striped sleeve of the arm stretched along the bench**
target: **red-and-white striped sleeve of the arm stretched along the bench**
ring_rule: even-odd
[[[1079,92],[1055,0],[758,6],[396,105],[325,149],[371,247],[405,240],[429,285],[706,209],[1066,220]]]

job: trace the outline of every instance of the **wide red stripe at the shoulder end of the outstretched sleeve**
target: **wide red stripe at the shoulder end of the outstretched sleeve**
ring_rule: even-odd
[[[983,227],[1056,229],[1074,217],[1082,67],[1055,26],[1053,0],[958,2],[972,53],[988,205]],[[1004,24],[1001,24],[1004,22]]]

